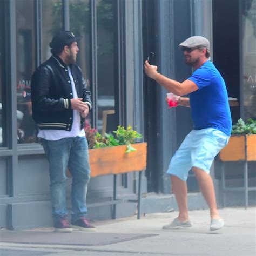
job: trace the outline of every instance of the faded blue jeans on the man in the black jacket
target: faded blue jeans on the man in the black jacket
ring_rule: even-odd
[[[72,221],[87,214],[86,194],[90,180],[88,143],[85,137],[42,139],[42,145],[49,161],[50,193],[54,220],[65,217],[66,170],[72,174]]]

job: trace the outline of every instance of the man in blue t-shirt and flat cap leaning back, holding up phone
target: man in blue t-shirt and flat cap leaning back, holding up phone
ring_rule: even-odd
[[[186,136],[171,159],[167,174],[171,176],[179,215],[163,228],[191,227],[187,208],[188,171],[195,173],[200,190],[210,207],[210,230],[224,226],[217,210],[214,185],[209,175],[214,157],[228,143],[232,122],[226,85],[219,71],[210,62],[210,42],[205,37],[193,36],[180,45],[185,63],[194,69],[191,77],[180,83],[157,72],[157,66],[145,62],[147,76],[156,80],[169,92],[177,95],[178,105],[191,107],[193,130]],[[181,97],[189,95],[190,97]]]

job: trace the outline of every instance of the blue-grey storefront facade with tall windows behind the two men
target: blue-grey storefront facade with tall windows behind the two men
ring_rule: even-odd
[[[161,73],[182,81],[192,69],[184,64],[178,44],[193,35],[207,37],[229,96],[240,103],[231,108],[233,122],[256,118],[255,0],[3,0],[0,12],[1,227],[51,225],[48,163],[31,116],[30,83],[33,70],[51,56],[48,45],[60,29],[83,36],[77,62],[92,92],[88,122],[102,132],[103,113],[111,110],[107,131],[122,124],[143,134],[148,144],[145,195],[171,194],[165,172],[192,129],[190,110],[167,109],[166,91],[144,75],[150,51]],[[211,174],[219,192],[218,159]],[[242,182],[239,174],[233,178]],[[132,196],[137,180],[133,173],[118,176],[118,194]],[[111,176],[91,179],[87,201],[111,200],[112,188]],[[188,189],[201,200],[192,173]],[[111,206],[90,208],[89,217],[111,218],[111,211]],[[117,217],[135,211],[136,204],[120,204]]]

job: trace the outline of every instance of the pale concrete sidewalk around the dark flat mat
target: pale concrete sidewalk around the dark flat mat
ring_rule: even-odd
[[[208,211],[191,211],[193,227],[183,230],[161,229],[177,216],[177,212],[156,213],[140,220],[134,216],[93,223],[99,234],[158,234],[156,236],[101,246],[1,242],[0,255],[256,255],[256,208],[225,208],[220,210],[220,214],[225,220],[225,227],[215,232],[209,231]],[[33,231],[51,230],[37,228]]]

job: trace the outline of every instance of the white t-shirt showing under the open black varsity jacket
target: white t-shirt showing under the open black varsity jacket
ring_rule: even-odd
[[[68,66],[68,72],[69,72],[69,77],[71,81],[71,86],[72,86],[72,93],[73,93],[73,98],[77,99],[77,90],[75,86],[74,79],[71,74],[70,67]],[[63,138],[69,138],[69,137],[84,137],[85,136],[85,131],[84,129],[80,129],[80,123],[81,123],[81,117],[80,113],[77,110],[73,110],[73,124],[72,124],[72,129],[71,131],[64,131],[64,130],[40,130],[38,132],[37,137],[47,139],[47,140],[58,140],[58,139],[63,139]]]

